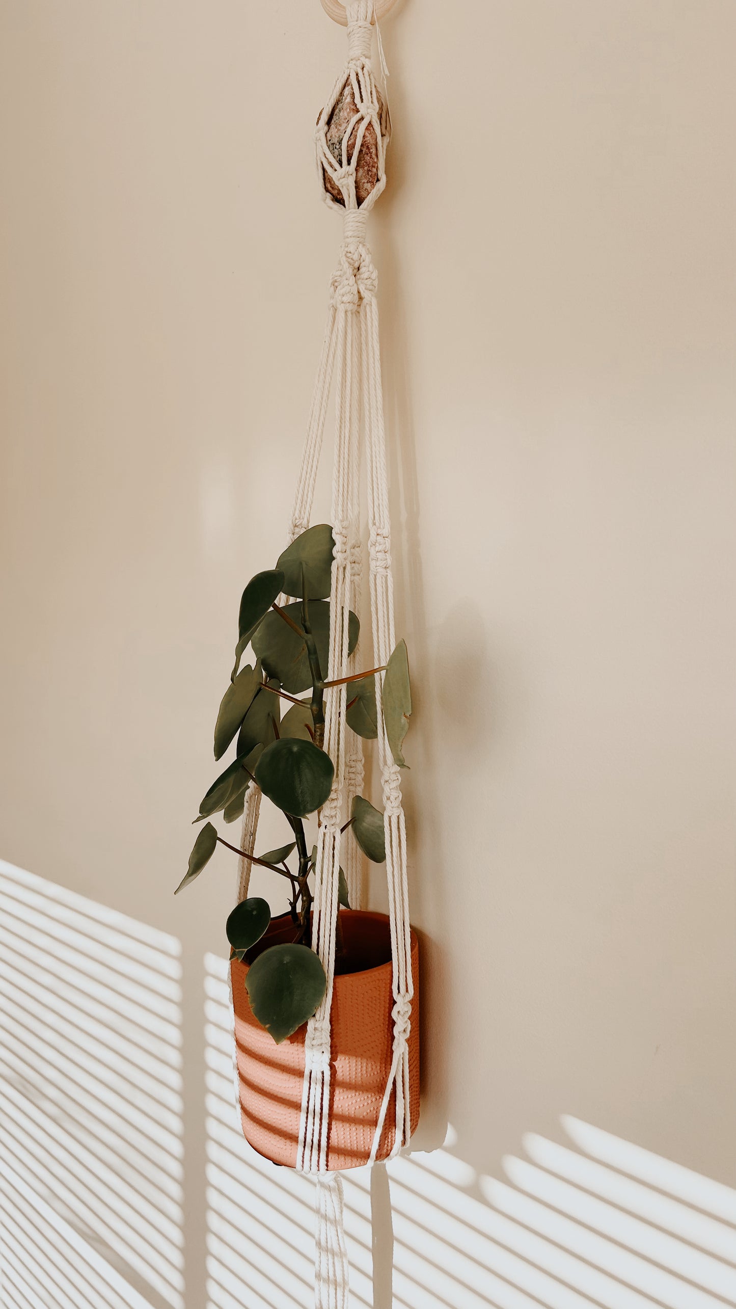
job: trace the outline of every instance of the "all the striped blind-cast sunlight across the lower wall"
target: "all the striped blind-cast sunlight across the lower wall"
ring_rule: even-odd
[[[185,1309],[179,973],[173,937],[0,863],[4,1309]],[[227,978],[206,956],[206,1309],[312,1309],[314,1183],[242,1138]],[[456,1141],[343,1174],[351,1306],[736,1305],[731,1187],[568,1115],[499,1177]]]

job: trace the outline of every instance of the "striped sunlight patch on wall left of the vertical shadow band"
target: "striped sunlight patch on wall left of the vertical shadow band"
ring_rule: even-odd
[[[0,861],[0,1301],[183,1309],[179,942]]]

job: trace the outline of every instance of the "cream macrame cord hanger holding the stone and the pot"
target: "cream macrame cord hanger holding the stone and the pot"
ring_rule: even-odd
[[[329,13],[342,14],[338,0],[322,0]],[[389,5],[378,4],[378,12]],[[337,13],[335,13],[337,9]],[[288,542],[309,528],[330,391],[335,391],[335,456],[331,525],[335,541],[330,593],[329,679],[355,670],[348,656],[348,615],[356,610],[361,585],[360,456],[365,439],[368,487],[369,598],[373,666],[388,664],[394,648],[393,579],[390,563],[389,497],[384,432],[384,403],[378,350],[377,278],[365,243],[367,216],[385,186],[389,118],[371,67],[373,0],[346,5],[347,63],[335,80],[316,131],[317,169],[325,200],[343,215],[344,230],[338,267],[330,283],[327,322],[309,414]],[[287,543],[288,543],[287,542]],[[381,711],[382,678],[376,675],[378,764],[381,775],[386,878],[393,966],[393,1059],[368,1162],[376,1160],[386,1110],[396,1092],[396,1134],[392,1155],[411,1135],[409,1031],[411,999],[411,937],[406,876],[406,829],[397,767]],[[363,742],[346,726],[347,690],[329,687],[325,696],[325,749],[334,763],[333,791],[320,814],[312,948],[327,978],[322,1004],[309,1020],[301,1101],[297,1168],[316,1174],[317,1245],[316,1309],[347,1309],[348,1274],[343,1232],[343,1192],[339,1173],[327,1172],[327,1114],[330,1103],[330,1005],[333,999],[340,827],[354,796],[363,792]],[[254,852],[261,792],[248,791],[241,850]],[[355,840],[346,842],[350,903],[359,907],[361,856]],[[250,860],[238,864],[238,902],[248,897]]]

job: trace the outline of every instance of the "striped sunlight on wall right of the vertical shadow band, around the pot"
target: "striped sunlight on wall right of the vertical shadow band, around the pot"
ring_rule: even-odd
[[[313,1182],[245,1141],[227,961],[206,957],[207,1309],[310,1309]],[[723,1309],[736,1191],[580,1119],[528,1134],[503,1178],[441,1149],[343,1174],[351,1305]],[[388,1191],[390,1190],[390,1204]],[[380,1225],[371,1229],[372,1207]],[[393,1264],[393,1275],[392,1275]]]

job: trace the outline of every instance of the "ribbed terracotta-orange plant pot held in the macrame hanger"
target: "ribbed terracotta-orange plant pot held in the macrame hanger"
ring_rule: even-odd
[[[327,1168],[358,1168],[368,1161],[378,1111],[392,1066],[392,948],[385,914],[340,910],[344,956],[335,959],[331,1007],[331,1067]],[[288,915],[276,918],[254,945],[253,961],[267,945],[291,941],[296,929]],[[245,990],[249,963],[233,959],[240,1106],[245,1139],[275,1164],[296,1166],[304,1037],[306,1024],[282,1045],[255,1021]],[[411,933],[414,1000],[409,1037],[411,1130],[419,1119],[419,945]],[[392,1093],[378,1158],[396,1136],[396,1090]]]

